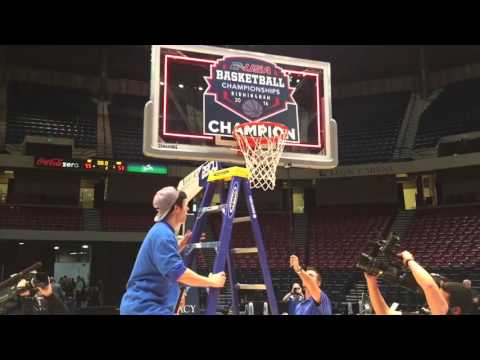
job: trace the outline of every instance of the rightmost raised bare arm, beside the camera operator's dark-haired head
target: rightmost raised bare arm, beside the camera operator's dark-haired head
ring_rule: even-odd
[[[448,303],[430,273],[421,267],[408,251],[403,251],[400,255],[403,263],[410,269],[417,284],[422,288],[432,315],[445,315],[448,312]]]

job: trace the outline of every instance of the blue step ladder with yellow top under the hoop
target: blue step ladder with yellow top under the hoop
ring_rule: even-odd
[[[192,229],[191,244],[185,252],[185,265],[191,266],[193,261],[193,250],[214,248],[217,252],[212,273],[225,271],[225,265],[228,269],[228,278],[232,289],[232,311],[233,314],[239,314],[239,292],[242,290],[266,291],[270,313],[278,315],[278,306],[273,290],[272,278],[267,262],[265,247],[263,244],[262,232],[258,222],[257,213],[253,204],[252,190],[250,188],[250,172],[246,168],[231,167],[223,170],[213,171],[208,176],[205,193],[197,212],[195,224]],[[225,193],[225,184],[230,183],[228,194]],[[247,202],[249,216],[235,217],[238,204],[238,198],[243,188],[245,200]],[[215,193],[220,194],[221,205],[211,206]],[[226,196],[226,197],[225,197]],[[226,200],[226,201],[225,201]],[[200,235],[205,227],[207,215],[212,213],[222,214],[222,226],[220,230],[220,240],[218,242],[200,242]],[[255,238],[257,247],[250,248],[231,248],[233,225],[240,222],[249,221]],[[263,284],[240,284],[236,280],[234,255],[237,254],[258,254],[260,267],[263,274]],[[208,291],[208,301],[206,315],[215,315],[217,311],[218,297],[221,289],[210,288]]]

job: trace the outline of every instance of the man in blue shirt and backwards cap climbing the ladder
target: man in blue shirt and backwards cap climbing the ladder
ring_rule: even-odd
[[[214,288],[225,284],[224,272],[204,277],[183,263],[180,251],[191,233],[178,242],[176,233],[187,218],[186,194],[172,186],[165,187],[155,194],[153,207],[157,209],[155,225],[138,252],[120,305],[121,315],[174,315],[180,295],[179,282]]]

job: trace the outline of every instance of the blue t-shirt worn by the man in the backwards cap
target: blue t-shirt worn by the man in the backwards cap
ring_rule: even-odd
[[[175,231],[166,222],[156,223],[138,252],[120,314],[173,315],[180,295],[177,280],[186,269]]]

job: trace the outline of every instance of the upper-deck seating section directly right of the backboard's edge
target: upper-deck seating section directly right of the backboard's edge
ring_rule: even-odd
[[[390,161],[409,98],[405,92],[335,100],[340,164]]]

